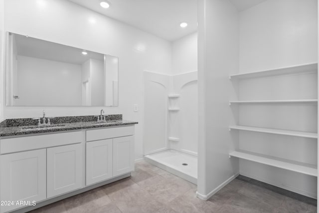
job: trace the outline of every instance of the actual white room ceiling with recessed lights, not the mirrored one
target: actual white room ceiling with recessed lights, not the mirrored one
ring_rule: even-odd
[[[197,30],[197,0],[107,0],[111,3],[107,9],[100,0],[70,1],[168,41]],[[265,0],[230,1],[242,11]],[[187,22],[187,27],[181,28],[181,22]]]

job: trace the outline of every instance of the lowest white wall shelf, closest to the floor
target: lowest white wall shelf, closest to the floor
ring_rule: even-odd
[[[260,155],[257,153],[248,153],[242,151],[234,151],[229,154],[231,157],[245,159],[273,167],[278,167],[285,170],[290,170],[305,175],[317,177],[318,171],[317,166],[311,164],[300,163],[296,161],[290,161],[287,159],[275,158],[272,156]]]

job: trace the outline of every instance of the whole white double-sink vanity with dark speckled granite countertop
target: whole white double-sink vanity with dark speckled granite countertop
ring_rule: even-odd
[[[107,116],[104,123],[94,119],[55,118],[56,128],[27,128],[30,119],[2,122],[0,212],[30,211],[129,177],[137,122],[122,115]]]

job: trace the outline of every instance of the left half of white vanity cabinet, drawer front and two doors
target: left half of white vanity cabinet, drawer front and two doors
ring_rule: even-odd
[[[13,202],[0,212],[82,188],[82,141],[81,131],[0,139],[0,200]]]

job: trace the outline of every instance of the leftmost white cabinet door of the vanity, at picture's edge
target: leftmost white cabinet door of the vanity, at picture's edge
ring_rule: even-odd
[[[46,150],[34,150],[0,156],[1,201],[13,201],[14,206],[1,206],[1,212],[20,208],[17,201],[46,199]]]

